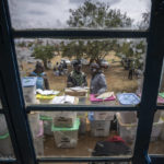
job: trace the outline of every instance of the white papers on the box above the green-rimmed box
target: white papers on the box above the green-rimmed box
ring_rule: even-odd
[[[51,103],[52,104],[65,104],[65,103],[74,104],[74,101],[75,101],[74,96],[65,95],[65,96],[56,96],[51,101]]]

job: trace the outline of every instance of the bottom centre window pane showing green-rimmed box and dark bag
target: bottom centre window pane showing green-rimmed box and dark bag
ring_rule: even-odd
[[[131,156],[136,113],[39,112],[28,114],[38,156]]]

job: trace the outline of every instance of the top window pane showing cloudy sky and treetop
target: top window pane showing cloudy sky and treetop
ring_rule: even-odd
[[[149,27],[151,0],[8,0],[14,28]]]

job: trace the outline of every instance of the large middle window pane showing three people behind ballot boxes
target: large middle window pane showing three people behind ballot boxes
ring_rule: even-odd
[[[140,102],[145,39],[16,39],[15,45],[26,104]]]

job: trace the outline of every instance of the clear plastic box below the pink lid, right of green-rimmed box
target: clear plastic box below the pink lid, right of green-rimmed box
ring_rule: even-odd
[[[89,120],[91,124],[91,134],[93,137],[107,137],[109,134],[110,121],[114,119],[113,112],[91,112]]]

